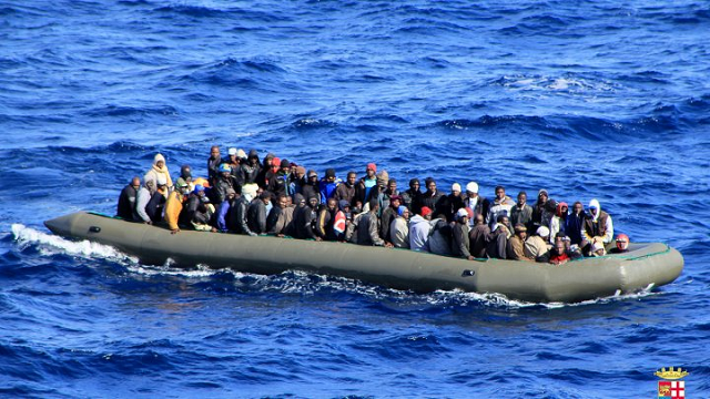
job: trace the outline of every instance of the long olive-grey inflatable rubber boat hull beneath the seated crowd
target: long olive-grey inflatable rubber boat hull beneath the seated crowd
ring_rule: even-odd
[[[536,303],[574,303],[673,282],[680,253],[666,244],[631,244],[629,252],[550,265],[445,257],[408,249],[271,236],[183,231],[78,212],[44,222],[52,233],[113,246],[148,265],[207,265],[254,274],[298,269],[395,289],[498,293]]]

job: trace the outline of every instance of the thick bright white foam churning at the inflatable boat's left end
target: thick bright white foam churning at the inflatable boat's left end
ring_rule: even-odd
[[[60,236],[42,233],[21,224],[13,224],[11,231],[14,239],[20,245],[37,244],[40,247],[40,253],[43,255],[62,253],[88,258],[99,257],[112,260],[128,260],[133,264],[138,263],[136,258],[128,256],[112,246],[92,243],[89,241],[73,242]]]

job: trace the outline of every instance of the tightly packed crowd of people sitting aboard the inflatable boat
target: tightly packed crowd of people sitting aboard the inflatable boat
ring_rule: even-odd
[[[585,256],[604,256],[613,239],[611,216],[591,200],[587,209],[575,202],[537,192],[528,204],[495,188],[490,200],[469,182],[454,183],[449,193],[433,177],[408,182],[400,191],[387,171],[368,163],[363,176],[348,172],[345,181],[334,168],[320,177],[314,170],[274,154],[260,158],[255,150],[229,149],[223,157],[212,146],[207,176],[195,177],[183,165],[173,183],[165,158],[156,154],[143,176],[133,177],[119,197],[116,216],[166,226],[172,234],[190,228],[250,236],[409,248],[467,259],[499,258],[564,264]],[[610,252],[628,250],[619,234]]]

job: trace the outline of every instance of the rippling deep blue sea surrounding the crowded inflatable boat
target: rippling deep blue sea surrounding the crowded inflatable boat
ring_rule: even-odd
[[[707,1],[0,1],[0,397],[710,397]],[[678,248],[581,304],[144,265],[43,221],[210,146],[598,198]],[[206,234],[206,233],[205,233]],[[383,264],[383,268],[387,265]]]

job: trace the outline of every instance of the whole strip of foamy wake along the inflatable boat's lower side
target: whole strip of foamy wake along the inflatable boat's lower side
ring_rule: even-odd
[[[193,268],[175,267],[171,259],[164,265],[143,265],[136,257],[123,254],[114,247],[92,243],[89,241],[69,241],[52,234],[43,233],[21,224],[11,227],[14,241],[21,248],[34,246],[43,256],[71,255],[87,259],[104,259],[119,264],[129,274],[140,278],[173,276],[190,280],[204,282],[212,278],[224,277],[232,282],[234,289],[247,291],[267,291],[283,294],[298,294],[313,296],[324,293],[348,293],[361,295],[372,300],[384,300],[395,304],[406,304],[407,308],[417,307],[467,307],[484,306],[500,309],[542,308],[557,309],[564,307],[588,306],[608,304],[629,299],[640,299],[648,296],[660,295],[652,290],[652,286],[632,294],[619,294],[609,297],[595,298],[575,304],[565,303],[529,303],[515,300],[501,294],[495,293],[467,293],[463,290],[436,290],[429,294],[416,294],[408,290],[384,288],[364,282],[301,270],[287,270],[278,275],[257,275],[235,272],[232,269],[213,269],[206,265],[197,265]]]

